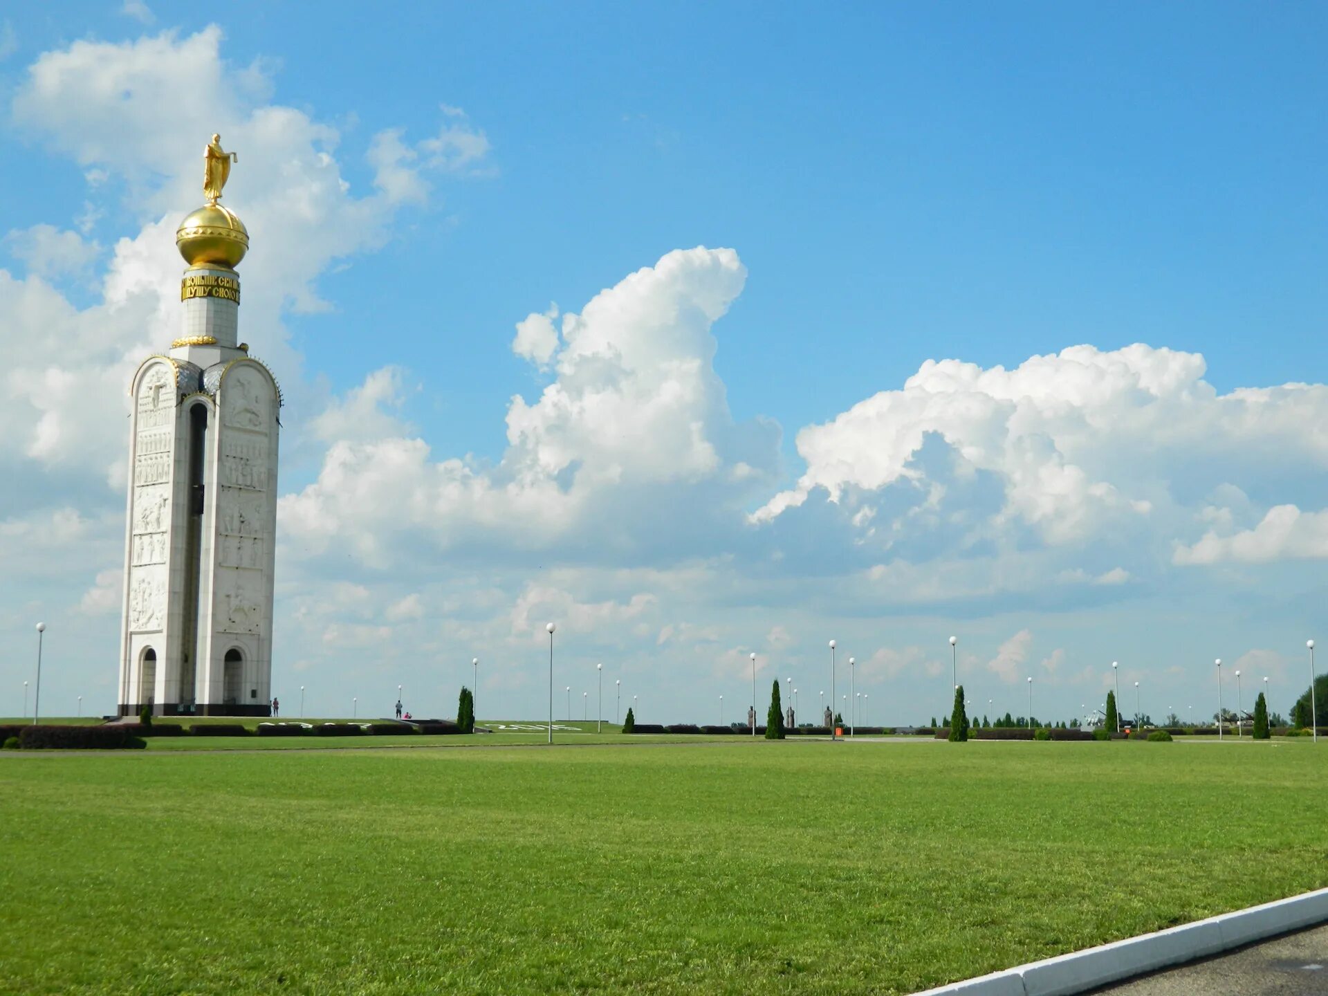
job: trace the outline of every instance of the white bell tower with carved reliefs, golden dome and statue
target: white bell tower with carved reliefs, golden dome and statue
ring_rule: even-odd
[[[236,341],[248,232],[216,203],[231,158],[214,135],[208,205],[175,232],[182,335],[130,385],[122,716],[271,712],[282,392]]]

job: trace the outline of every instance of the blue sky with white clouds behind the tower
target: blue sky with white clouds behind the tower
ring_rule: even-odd
[[[48,386],[12,380],[0,409],[0,632],[64,616],[65,697],[114,680],[124,506],[98,457],[122,441],[42,437],[49,374],[82,364],[69,404],[105,421],[108,385],[169,335],[165,305],[114,288],[169,297],[173,220],[153,226],[195,206],[214,127],[270,251],[242,268],[242,321],[291,400],[276,673],[328,710],[367,659],[450,710],[461,679],[434,661],[482,644],[481,691],[534,714],[522,627],[558,611],[582,620],[572,660],[620,661],[669,717],[738,697],[748,648],[811,681],[827,633],[876,660],[865,681],[894,704],[874,718],[895,722],[940,710],[950,631],[969,685],[1036,673],[1038,712],[1066,717],[1112,657],[1177,699],[1214,656],[1287,691],[1303,669],[1328,555],[1321,5],[238,3],[215,28],[126,7],[0,16],[0,335]],[[226,93],[183,94],[175,53]],[[259,127],[274,108],[280,141]],[[286,167],[328,162],[323,238],[288,224]],[[740,262],[663,263],[699,246]],[[625,286],[643,267],[655,283]],[[587,335],[643,364],[612,381],[614,417],[687,398],[627,449],[591,410],[610,377],[591,347],[562,328],[531,332],[551,364],[514,349],[517,323],[608,288]],[[632,324],[624,301],[684,317]],[[50,315],[81,331],[42,339]],[[1097,359],[1021,368],[1080,345]],[[946,367],[910,381],[932,360],[972,365],[957,394]],[[355,479],[405,469],[353,498],[336,454]],[[467,454],[462,481],[444,465]],[[531,490],[505,506],[514,481]],[[386,521],[382,489],[428,511]]]

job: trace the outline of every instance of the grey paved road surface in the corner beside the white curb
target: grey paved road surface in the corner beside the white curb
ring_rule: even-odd
[[[1098,989],[1106,996],[1324,996],[1328,924]]]

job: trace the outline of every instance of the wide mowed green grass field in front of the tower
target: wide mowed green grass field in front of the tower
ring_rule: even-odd
[[[5,753],[0,991],[906,993],[1325,886],[1325,789],[1309,742]]]

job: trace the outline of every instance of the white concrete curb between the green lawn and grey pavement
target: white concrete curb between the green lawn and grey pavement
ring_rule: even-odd
[[[1328,888],[1031,961],[916,996],[1070,996],[1328,920]]]

